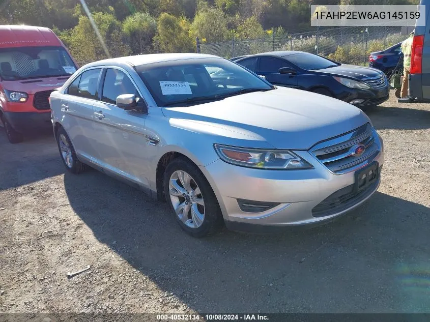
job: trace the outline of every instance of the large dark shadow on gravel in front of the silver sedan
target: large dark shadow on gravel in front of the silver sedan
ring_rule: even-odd
[[[430,209],[421,204],[378,192],[358,210],[311,230],[260,236],[224,229],[194,239],[180,229],[166,203],[98,171],[66,173],[64,184],[71,207],[100,242],[193,309],[420,312],[430,307]]]

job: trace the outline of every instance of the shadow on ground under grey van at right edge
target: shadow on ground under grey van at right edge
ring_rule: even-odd
[[[402,105],[402,104],[399,104]],[[413,104],[408,104],[412,105]],[[430,104],[428,104],[430,106]],[[363,109],[377,130],[430,129],[430,110],[375,106]]]

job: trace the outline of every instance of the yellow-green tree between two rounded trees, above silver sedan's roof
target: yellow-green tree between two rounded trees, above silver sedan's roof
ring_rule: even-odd
[[[178,18],[162,13],[157,21],[157,34],[154,46],[162,52],[195,51],[192,38],[189,36],[190,23],[185,18]]]

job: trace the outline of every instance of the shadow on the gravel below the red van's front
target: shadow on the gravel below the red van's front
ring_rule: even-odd
[[[31,184],[64,173],[52,130],[27,134],[11,144],[0,128],[0,191]]]

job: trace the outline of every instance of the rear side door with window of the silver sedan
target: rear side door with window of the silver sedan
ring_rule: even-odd
[[[76,77],[61,100],[63,125],[78,155],[98,158],[97,145],[92,137],[93,104],[101,68],[88,69]]]

